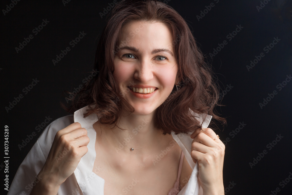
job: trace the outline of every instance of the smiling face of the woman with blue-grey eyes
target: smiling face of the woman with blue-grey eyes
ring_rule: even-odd
[[[172,41],[171,30],[163,23],[133,21],[122,28],[114,57],[114,80],[135,114],[155,111],[177,84]]]

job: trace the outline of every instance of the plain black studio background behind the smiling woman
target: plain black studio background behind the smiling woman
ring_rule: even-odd
[[[91,75],[97,37],[106,21],[99,13],[108,3],[113,3],[71,0],[64,5],[63,2],[19,1],[4,15],[2,9],[11,1],[1,1],[1,188],[4,188],[5,175],[3,156],[10,157],[11,184],[18,166],[44,130],[37,132],[35,127],[45,122],[46,117],[52,118],[52,122],[68,115],[60,107],[60,102],[66,103],[64,91],[73,92]],[[215,6],[198,21],[197,15],[212,2]],[[190,25],[202,52],[212,63],[221,93],[227,85],[232,86],[221,102],[225,106],[218,108],[218,112],[227,117],[227,126],[224,129],[219,126],[221,131],[215,131],[226,145],[223,177],[227,194],[292,192],[292,181],[286,179],[292,172],[289,144],[292,140],[292,82],[284,82],[286,85],[281,90],[277,88],[286,75],[292,73],[292,2],[266,0],[265,3],[258,10],[256,6],[261,4],[258,0],[168,2]],[[32,30],[41,25],[43,19],[49,22],[35,35]],[[231,40],[227,39],[237,25],[243,28]],[[78,37],[79,32],[86,35],[74,47],[70,46],[69,42]],[[15,47],[30,34],[34,38],[17,53]],[[264,47],[272,43],[274,37],[280,41],[265,53]],[[209,53],[224,40],[227,45],[211,58]],[[68,46],[71,50],[54,65],[52,60]],[[261,52],[265,56],[248,71],[246,66]],[[39,82],[25,94],[22,90],[29,87],[33,79]],[[268,98],[270,101],[261,108],[259,103],[274,90],[277,94]],[[20,94],[23,98],[7,112],[5,107]],[[240,122],[246,125],[236,130]],[[4,125],[9,127],[8,155],[4,155]],[[36,135],[20,150],[18,144],[33,131]],[[277,135],[283,138],[274,141]],[[269,143],[273,147],[267,147]],[[267,153],[258,157],[263,150]],[[257,157],[259,161],[253,162]],[[283,187],[280,182],[285,179],[287,183]]]

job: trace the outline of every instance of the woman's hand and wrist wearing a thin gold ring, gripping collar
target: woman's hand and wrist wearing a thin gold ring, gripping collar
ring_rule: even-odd
[[[199,163],[199,183],[204,194],[224,194],[223,161],[225,145],[210,128],[200,128],[191,134],[191,156]]]

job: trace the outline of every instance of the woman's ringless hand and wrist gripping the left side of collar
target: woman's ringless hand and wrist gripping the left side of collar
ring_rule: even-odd
[[[87,130],[74,122],[57,132],[48,158],[39,172],[40,182],[32,189],[32,194],[56,194],[60,185],[72,175],[80,159],[88,149]]]

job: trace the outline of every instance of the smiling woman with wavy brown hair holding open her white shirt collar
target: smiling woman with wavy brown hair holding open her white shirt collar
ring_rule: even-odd
[[[176,11],[120,1],[95,66],[74,117],[44,130],[8,194],[224,194],[225,146],[206,128],[224,121],[218,91]]]

